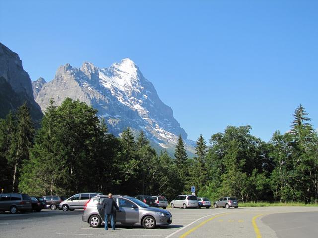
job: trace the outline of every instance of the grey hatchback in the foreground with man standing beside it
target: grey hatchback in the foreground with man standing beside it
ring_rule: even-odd
[[[107,195],[96,196],[87,202],[82,215],[82,220],[91,227],[99,227],[104,224],[104,210],[101,210],[103,201]],[[121,224],[141,224],[146,229],[155,228],[157,225],[168,225],[172,222],[169,211],[157,207],[151,207],[137,198],[129,196],[113,195],[119,211],[115,213],[115,222]]]

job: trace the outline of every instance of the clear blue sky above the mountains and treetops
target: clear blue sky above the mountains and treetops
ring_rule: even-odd
[[[0,41],[32,80],[131,58],[196,140],[268,141],[301,103],[318,125],[317,0],[0,0]]]

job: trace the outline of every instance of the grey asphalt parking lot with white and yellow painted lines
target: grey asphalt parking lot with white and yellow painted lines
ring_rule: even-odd
[[[0,214],[0,238],[276,238],[316,237],[318,207],[260,207],[238,209],[169,209],[172,224],[152,230],[117,225],[115,231],[91,228],[81,220],[82,210],[42,210]],[[310,223],[312,221],[312,223]],[[282,224],[280,224],[282,223]],[[295,226],[297,224],[297,226]],[[293,229],[294,232],[288,232]]]

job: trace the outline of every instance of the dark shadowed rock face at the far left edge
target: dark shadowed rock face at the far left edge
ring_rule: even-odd
[[[35,123],[40,122],[43,114],[34,101],[30,76],[24,71],[19,55],[2,43],[0,43],[0,85],[1,118],[26,102],[32,119]]]

